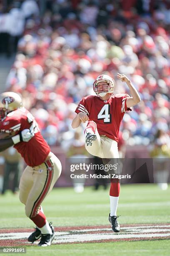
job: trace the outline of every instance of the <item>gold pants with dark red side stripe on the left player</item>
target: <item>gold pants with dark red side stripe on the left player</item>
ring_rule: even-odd
[[[41,165],[27,166],[20,179],[20,201],[25,204],[25,214],[35,217],[44,198],[50,193],[61,174],[60,160],[53,154]]]

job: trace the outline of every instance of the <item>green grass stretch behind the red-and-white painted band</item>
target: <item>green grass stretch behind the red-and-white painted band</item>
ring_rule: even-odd
[[[53,189],[43,202],[47,219],[55,226],[108,225],[109,191],[93,191],[86,187],[81,194],[72,188]],[[120,224],[170,223],[170,188],[160,190],[153,184],[122,185],[117,215]],[[29,228],[32,221],[25,216],[18,195],[8,192],[0,196],[0,228]]]

